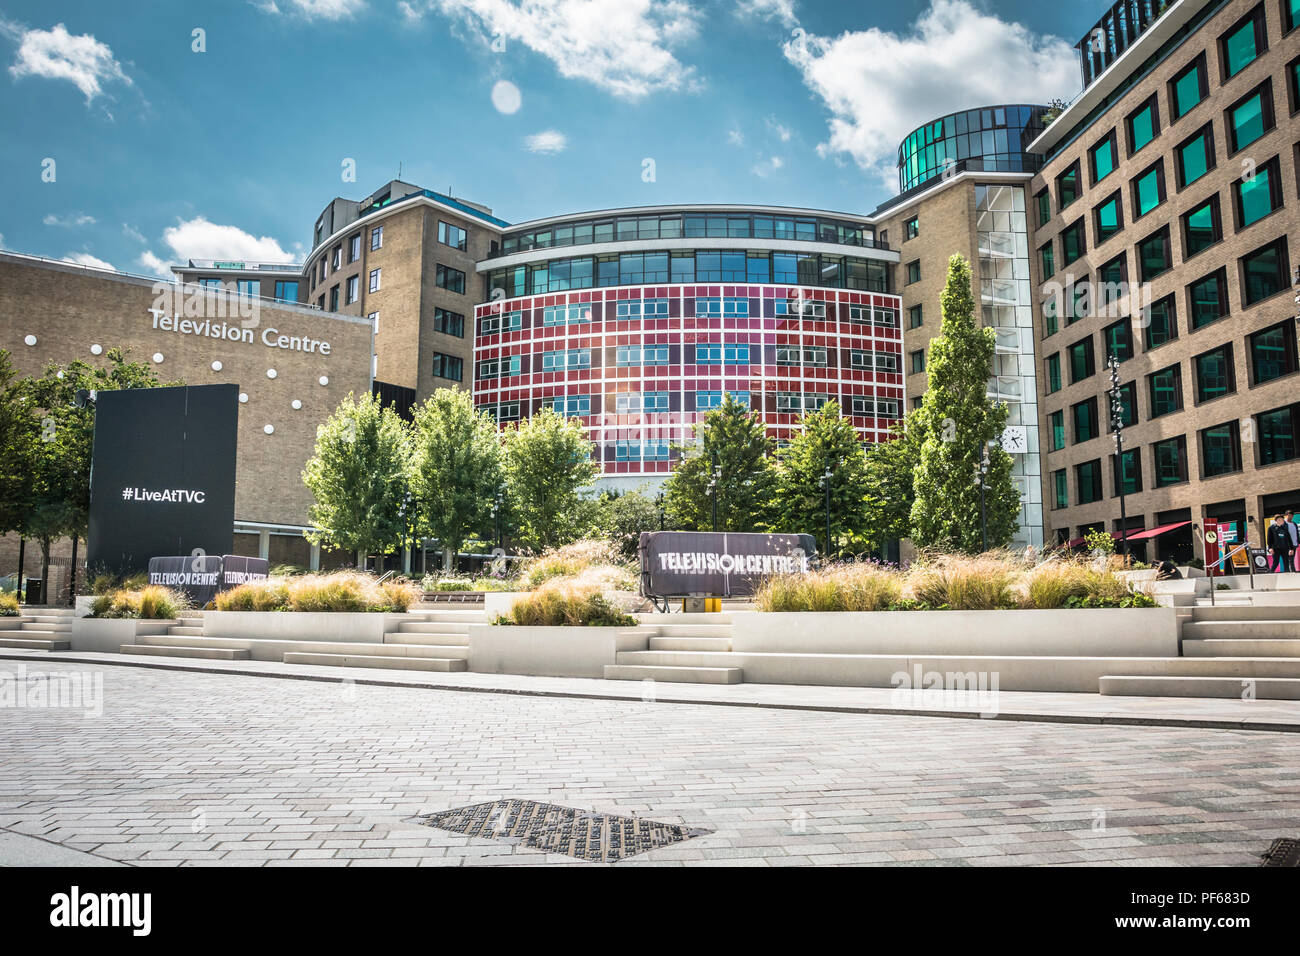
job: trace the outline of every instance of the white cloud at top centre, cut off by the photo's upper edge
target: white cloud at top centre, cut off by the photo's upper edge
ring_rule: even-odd
[[[625,99],[696,88],[696,70],[672,53],[699,33],[701,12],[685,0],[404,0],[408,20],[438,12],[464,22],[486,44],[520,43],[549,57],[562,77],[585,79]]]

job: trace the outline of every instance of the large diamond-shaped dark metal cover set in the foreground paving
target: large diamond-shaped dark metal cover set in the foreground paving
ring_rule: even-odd
[[[647,849],[712,832],[640,817],[540,804],[536,800],[494,800],[416,819],[454,834],[519,843],[546,853],[564,853],[595,862],[616,862]]]

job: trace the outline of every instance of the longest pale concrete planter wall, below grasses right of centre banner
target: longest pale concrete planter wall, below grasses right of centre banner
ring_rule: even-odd
[[[1178,657],[1173,607],[732,615],[737,653]]]

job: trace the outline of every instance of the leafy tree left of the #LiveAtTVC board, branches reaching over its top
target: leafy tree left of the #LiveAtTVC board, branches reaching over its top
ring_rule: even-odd
[[[51,364],[40,378],[27,380],[27,403],[34,410],[39,442],[32,459],[35,496],[20,531],[40,544],[42,600],[48,602],[49,550],[72,537],[72,588],[77,588],[78,538],[90,524],[90,464],[95,450],[95,407],[78,407],[78,392],[157,388],[157,373],[147,362],[127,362],[122,349],[104,352],[103,365],[75,360]],[[166,382],[182,385],[183,382]]]

